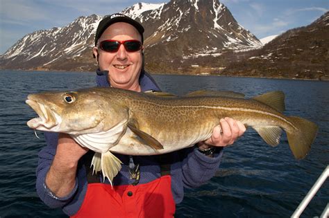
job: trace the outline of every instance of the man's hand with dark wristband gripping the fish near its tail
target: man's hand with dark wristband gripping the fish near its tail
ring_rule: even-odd
[[[224,118],[220,120],[220,125],[217,125],[212,130],[212,136],[207,140],[200,142],[197,146],[200,149],[208,149],[211,146],[225,147],[232,145],[239,136],[242,136],[246,131],[246,127],[242,122],[233,118]]]

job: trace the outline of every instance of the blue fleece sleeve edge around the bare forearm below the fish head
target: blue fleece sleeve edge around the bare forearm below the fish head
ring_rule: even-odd
[[[65,206],[67,203],[73,199],[74,194],[78,188],[77,182],[74,189],[71,191],[67,197],[56,197],[51,190],[47,187],[44,182],[46,179],[47,172],[51,163],[53,162],[53,158],[56,154],[56,148],[58,144],[58,134],[44,132],[44,138],[46,139],[47,146],[42,148],[39,152],[39,160],[37,164],[37,181],[36,181],[36,190],[40,199],[51,208],[60,208]]]

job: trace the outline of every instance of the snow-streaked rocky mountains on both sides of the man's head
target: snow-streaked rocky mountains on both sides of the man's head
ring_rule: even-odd
[[[137,3],[122,13],[140,21],[146,30],[146,69],[202,65],[216,62],[228,51],[262,46],[218,0]],[[98,15],[78,17],[62,28],[28,34],[0,56],[0,67],[94,71],[92,46],[101,19]]]

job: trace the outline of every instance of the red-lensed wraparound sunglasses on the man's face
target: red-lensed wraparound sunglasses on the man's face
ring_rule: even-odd
[[[106,52],[115,53],[119,50],[121,44],[124,45],[124,48],[126,48],[126,51],[128,52],[140,51],[142,49],[142,42],[135,39],[126,41],[108,39],[100,42],[99,48]]]

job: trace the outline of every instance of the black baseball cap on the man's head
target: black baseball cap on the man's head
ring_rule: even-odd
[[[104,17],[99,22],[99,26],[97,27],[96,35],[95,35],[95,46],[97,45],[97,41],[99,40],[101,35],[104,33],[106,28],[108,28],[110,25],[115,24],[117,22],[124,22],[124,23],[133,25],[138,30],[140,35],[142,36],[142,43],[144,42],[144,38],[143,38],[144,27],[142,26],[142,24],[135,21],[135,19],[131,19],[130,17],[128,17],[126,15],[113,14],[113,15],[108,15],[108,16]]]

